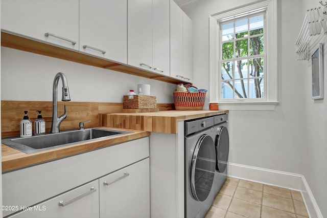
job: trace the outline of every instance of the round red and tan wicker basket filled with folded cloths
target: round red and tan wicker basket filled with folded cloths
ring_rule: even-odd
[[[198,111],[203,109],[205,92],[190,92],[189,87],[186,85],[188,92],[175,91],[174,103],[177,111]],[[192,86],[196,88],[195,86]]]

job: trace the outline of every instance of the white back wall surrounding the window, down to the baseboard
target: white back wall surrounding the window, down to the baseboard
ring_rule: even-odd
[[[193,20],[194,72],[199,86],[208,86],[208,17],[254,1],[198,1],[183,7]],[[278,101],[273,112],[230,111],[230,162],[300,173],[303,150],[301,62],[295,40],[301,27],[297,0],[278,2]],[[298,10],[295,10],[295,9]],[[290,13],[290,11],[293,11]],[[296,13],[296,11],[298,11]],[[268,60],[269,61],[269,60]],[[294,82],[296,78],[297,82]],[[210,94],[210,93],[208,93]],[[302,119],[301,119],[302,118]]]

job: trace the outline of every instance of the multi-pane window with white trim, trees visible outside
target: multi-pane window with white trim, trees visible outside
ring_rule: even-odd
[[[274,110],[276,23],[276,0],[211,16],[211,102],[226,110]]]

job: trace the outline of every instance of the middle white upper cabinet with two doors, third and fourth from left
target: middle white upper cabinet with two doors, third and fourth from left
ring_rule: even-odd
[[[128,64],[170,75],[169,0],[128,2]]]

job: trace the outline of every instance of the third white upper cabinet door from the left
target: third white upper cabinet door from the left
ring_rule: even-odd
[[[152,0],[128,1],[128,59],[131,66],[152,70]]]

